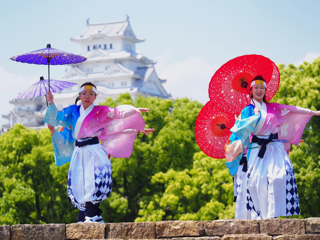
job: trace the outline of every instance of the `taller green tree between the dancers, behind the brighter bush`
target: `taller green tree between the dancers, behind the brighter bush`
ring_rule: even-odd
[[[172,101],[141,96],[133,102],[126,93],[120,94],[116,100],[109,98],[102,103],[110,107],[121,104],[150,108],[150,112],[142,113],[142,116],[146,128],[155,128],[156,131],[148,136],[138,134],[130,158],[111,158],[111,196],[114,197],[110,196],[100,204],[104,211],[102,216],[111,222],[134,221],[138,217],[141,198],[164,190],[164,186],[151,182],[153,175],[169,169],[191,169],[193,154],[199,151],[194,136],[195,119],[202,108],[199,102],[186,98]],[[126,214],[119,214],[118,206]]]

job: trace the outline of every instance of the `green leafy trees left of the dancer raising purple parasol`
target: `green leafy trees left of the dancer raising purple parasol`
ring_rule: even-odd
[[[70,222],[68,166],[54,163],[50,132],[16,124],[0,137],[0,224]]]

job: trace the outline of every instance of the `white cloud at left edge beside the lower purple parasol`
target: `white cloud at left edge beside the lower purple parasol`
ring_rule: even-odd
[[[10,104],[9,101],[16,97],[19,92],[22,92],[30,85],[36,83],[38,77],[27,78],[22,75],[16,75],[6,71],[3,67],[0,66],[0,80],[1,80],[1,116],[0,116],[0,127],[2,124],[5,124],[8,120],[2,117],[2,114],[8,113],[14,108],[13,104]]]

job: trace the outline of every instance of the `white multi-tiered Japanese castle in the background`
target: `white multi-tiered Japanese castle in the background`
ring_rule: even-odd
[[[78,85],[54,94],[54,103],[58,109],[75,103],[81,84],[92,82],[97,86],[99,95],[96,104],[106,98],[116,98],[120,93],[128,92],[135,99],[138,95],[171,98],[162,86],[166,80],[159,79],[154,65],[156,61],[136,52],[136,43],[145,39],[135,36],[129,18],[123,21],[93,23],[87,26],[81,36],[71,38],[80,44],[80,55],[88,60],[72,64],[68,71],[57,80],[77,83]],[[37,97],[10,101],[14,109],[4,118],[10,128],[15,123],[27,127],[44,126],[43,116],[47,108],[45,98]]]

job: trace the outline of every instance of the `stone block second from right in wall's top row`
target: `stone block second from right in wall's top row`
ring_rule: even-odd
[[[290,219],[261,219],[260,233],[268,235],[300,235],[305,234],[304,219],[290,218]]]

